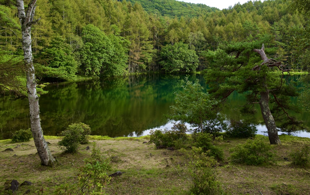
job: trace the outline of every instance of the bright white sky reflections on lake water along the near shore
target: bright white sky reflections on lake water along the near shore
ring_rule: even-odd
[[[155,127],[155,128],[151,128],[151,129],[147,129],[145,130],[140,136],[145,136],[145,135],[148,135],[150,133],[151,130],[156,130],[156,129],[161,129],[161,130],[164,130],[165,128],[167,129],[171,129],[171,127],[173,126],[173,121],[170,121],[168,122],[167,124],[165,125],[162,125],[160,127]],[[190,129],[190,125],[188,123],[186,123],[186,126],[188,129]],[[268,133],[267,133],[267,128],[265,125],[257,125],[256,126],[257,128],[257,134],[259,135],[264,135],[264,136],[268,136]],[[281,135],[281,134],[288,134],[287,132],[281,132],[281,131],[278,131],[278,134]],[[290,135],[292,136],[298,136],[298,137],[308,137],[310,138],[310,132],[305,132],[305,131],[297,131],[297,132],[292,132],[290,133]],[[135,134],[135,132],[133,133],[133,136],[132,137],[137,137],[137,135]]]

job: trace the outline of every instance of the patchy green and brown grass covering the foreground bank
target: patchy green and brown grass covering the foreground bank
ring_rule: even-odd
[[[268,137],[257,135],[268,142]],[[186,194],[191,181],[187,169],[188,158],[179,150],[156,150],[148,137],[110,138],[91,136],[90,143],[81,145],[77,154],[63,153],[57,147],[60,137],[46,137],[49,148],[58,163],[55,167],[40,165],[33,140],[12,143],[0,141],[0,194],[6,180],[19,183],[30,181],[31,186],[21,186],[16,194],[53,194],[61,184],[74,185],[83,159],[91,155],[91,142],[95,141],[101,154],[109,159],[112,169],[121,171],[121,176],[112,178],[104,189],[107,194]],[[282,145],[275,145],[276,163],[265,166],[247,166],[229,163],[229,149],[245,143],[246,139],[225,139],[217,143],[224,150],[225,159],[215,167],[217,178],[228,194],[310,194],[310,170],[291,165],[289,154],[297,150],[309,138],[281,135]],[[12,148],[13,152],[3,152]],[[288,158],[288,159],[287,159]]]

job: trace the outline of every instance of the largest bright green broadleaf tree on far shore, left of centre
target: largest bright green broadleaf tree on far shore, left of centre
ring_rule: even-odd
[[[114,34],[107,36],[92,24],[86,25],[82,33],[84,46],[80,53],[85,75],[117,76],[125,72],[129,46],[127,40]]]

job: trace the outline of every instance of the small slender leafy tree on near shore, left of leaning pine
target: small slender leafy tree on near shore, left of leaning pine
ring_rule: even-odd
[[[180,120],[197,127],[197,131],[203,132],[208,124],[207,121],[217,117],[216,106],[219,101],[203,92],[199,80],[192,83],[186,79],[183,91],[175,93],[176,106],[170,106],[172,114],[170,119]]]

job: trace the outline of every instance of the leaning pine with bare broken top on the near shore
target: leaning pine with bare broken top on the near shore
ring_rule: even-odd
[[[280,127],[286,131],[294,131],[301,126],[301,122],[287,112],[294,109],[290,97],[298,94],[283,74],[290,69],[281,62],[268,59],[264,45],[255,49],[259,46],[262,46],[261,41],[229,43],[206,52],[204,55],[210,62],[206,82],[210,87],[209,93],[222,102],[234,91],[246,92],[247,104],[241,111],[254,113],[254,104],[259,104],[270,144],[278,145],[281,141],[275,119],[282,122]]]

